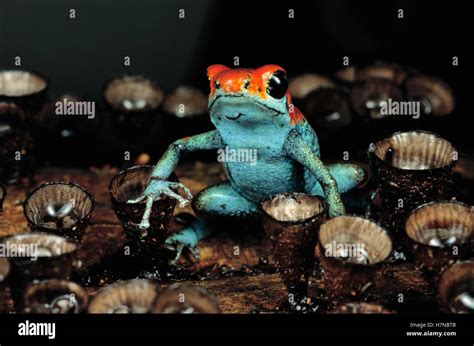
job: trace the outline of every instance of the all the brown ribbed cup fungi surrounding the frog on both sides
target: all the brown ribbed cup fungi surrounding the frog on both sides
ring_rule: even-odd
[[[40,112],[35,107],[44,98],[47,81],[36,74],[11,71],[2,72],[0,80],[5,85],[23,83],[23,88],[3,86],[2,93],[6,90],[10,95],[8,102],[0,104],[0,121],[8,124],[0,126],[0,140],[8,143],[7,149],[21,143],[24,152],[29,153],[31,136],[25,135],[22,119],[40,113],[43,120],[48,118],[44,108]],[[408,262],[415,264],[436,291],[440,310],[472,313],[474,209],[456,199],[456,149],[436,133],[412,130],[410,121],[394,120],[381,112],[383,103],[389,99],[416,101],[422,113],[417,124],[436,124],[436,119],[444,119],[454,111],[451,89],[441,80],[418,71],[375,63],[345,68],[334,78],[298,76],[290,81],[290,91],[308,121],[322,129],[323,142],[327,139],[324,133],[333,136],[344,132],[354,122],[359,124],[356,127],[373,130],[364,133],[383,135],[382,139],[370,138],[372,143],[364,149],[371,174],[363,215],[329,218],[323,198],[303,193],[284,193],[262,202],[268,253],[293,297],[291,310],[303,311],[311,304],[317,305],[317,301],[311,302],[309,298],[308,286],[318,267],[323,273],[327,297],[338,302],[329,312],[392,313],[392,309],[367,299],[366,292],[377,289],[377,275],[393,271],[398,262]],[[109,82],[104,99],[116,114],[116,130],[136,136],[137,142],[143,129],[153,127],[158,107],[176,115],[164,118],[176,129],[182,128],[181,121],[193,119],[198,120],[192,127],[202,126],[200,119],[206,113],[205,98],[195,90],[179,88],[165,97],[156,84],[137,76]],[[191,105],[185,111],[179,107],[183,99]],[[45,124],[49,126],[49,121],[42,122],[42,126]],[[393,132],[393,126],[401,131]],[[0,147],[0,154],[6,155],[1,150]],[[0,172],[2,177],[14,180],[22,173],[6,167]],[[163,247],[176,204],[169,198],[155,202],[150,228],[144,232],[138,227],[145,206],[126,201],[143,192],[151,170],[152,166],[147,165],[127,168],[115,175],[109,186],[112,206],[137,253],[149,254]],[[178,181],[174,175],[171,179]],[[2,186],[0,192],[3,201],[6,189]],[[12,296],[19,311],[219,311],[216,300],[201,288],[180,284],[162,288],[145,279],[116,282],[89,299],[83,288],[68,279],[74,270],[80,270],[81,263],[76,257],[78,242],[93,209],[91,193],[73,183],[46,183],[29,193],[24,201],[24,214],[31,232],[3,238],[2,242],[35,244],[38,259],[0,258],[0,286],[15,283]]]

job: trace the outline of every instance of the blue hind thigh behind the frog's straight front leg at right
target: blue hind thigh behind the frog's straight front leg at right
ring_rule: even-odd
[[[365,170],[351,163],[335,163],[326,166],[337,182],[339,193],[345,193],[359,185],[366,177]],[[311,190],[312,195],[324,196],[323,189],[316,183]]]

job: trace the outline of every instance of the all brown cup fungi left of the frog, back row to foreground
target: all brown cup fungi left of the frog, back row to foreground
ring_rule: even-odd
[[[67,106],[86,100],[74,94],[48,99],[48,85],[48,79],[39,73],[0,71],[0,207],[8,185],[28,185],[38,165],[82,164],[84,155],[71,152],[84,150],[103,125],[101,116],[87,120],[58,116],[58,102]],[[208,121],[207,99],[191,86],[165,95],[143,76],[121,76],[107,83],[103,96],[102,111],[111,115],[107,126],[132,149],[141,145],[136,153],[146,144],[142,142],[147,131],[162,131],[164,123],[171,130],[161,134],[172,136],[163,139],[166,142],[189,134],[180,133],[183,121],[194,124],[188,127],[192,131],[200,131]],[[94,144],[89,149],[92,155],[96,152]],[[69,155],[51,155],[51,150]],[[20,160],[15,157],[18,154]],[[66,162],[68,159],[71,162]],[[131,162],[133,159],[137,157]],[[136,245],[136,254],[143,256],[164,242],[175,206],[171,199],[155,203],[150,229],[147,234],[139,231],[137,220],[144,206],[132,206],[126,200],[143,191],[151,169],[146,165],[128,169],[110,185],[112,204],[129,244]],[[216,299],[197,286],[176,283],[165,287],[148,279],[119,280],[91,297],[84,287],[71,281],[84,270],[78,248],[94,205],[92,194],[71,182],[49,182],[30,191],[24,201],[30,231],[0,240],[7,255],[0,257],[0,311],[11,311],[13,301],[13,310],[25,313],[219,312]]]

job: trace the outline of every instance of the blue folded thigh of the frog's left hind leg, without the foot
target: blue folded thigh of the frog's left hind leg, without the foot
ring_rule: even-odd
[[[258,213],[258,206],[240,195],[229,182],[212,185],[193,199],[198,214],[248,217]]]

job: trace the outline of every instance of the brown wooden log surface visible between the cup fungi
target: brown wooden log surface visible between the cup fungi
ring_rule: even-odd
[[[83,261],[84,268],[100,266],[107,258],[113,258],[117,252],[122,251],[126,241],[125,234],[120,222],[112,209],[108,185],[117,168],[104,167],[101,169],[90,168],[43,169],[35,176],[32,186],[24,187],[12,185],[8,187],[8,196],[4,203],[4,211],[0,214],[0,237],[12,235],[28,230],[23,215],[23,200],[29,190],[34,186],[50,181],[69,181],[82,185],[89,190],[96,201],[90,224],[80,244],[79,257]],[[185,164],[180,165],[176,174],[193,194],[203,188],[219,182],[224,178],[220,165],[217,164]],[[175,215],[183,211],[193,214],[190,206],[176,208]],[[179,230],[182,226],[173,219],[170,223],[170,232]],[[229,227],[232,228],[232,227]],[[183,256],[178,266],[187,268],[189,272],[199,272],[208,268],[219,268],[224,266],[225,270],[240,270],[238,275],[211,276],[199,280],[184,280],[184,282],[202,286],[216,296],[221,310],[227,313],[249,313],[253,311],[274,311],[278,304],[287,298],[287,291],[279,275],[274,271],[252,271],[261,263],[265,257],[264,236],[260,227],[251,225],[249,227],[238,227],[229,231],[223,229],[218,234],[200,242],[200,260],[191,256]],[[272,260],[269,259],[269,267]],[[316,270],[318,272],[318,270]],[[321,280],[322,273],[316,274],[310,283],[310,292],[314,296],[324,299],[324,284]],[[419,297],[425,297],[427,304],[432,304],[432,288],[424,281],[420,271],[411,264],[393,265],[390,275],[379,275],[375,279],[377,289],[369,295],[371,301],[395,306],[395,310],[404,311],[404,305],[397,301],[398,294],[408,292],[415,301]],[[99,280],[97,284],[87,286],[91,294],[98,288],[111,283],[110,280]],[[165,285],[169,284],[165,283]],[[323,292],[323,293],[321,293]],[[334,306],[340,302],[330,302]],[[398,305],[397,305],[398,304]],[[436,305],[436,304],[435,304]],[[398,309],[397,307],[400,307]],[[408,312],[410,309],[407,310]]]

